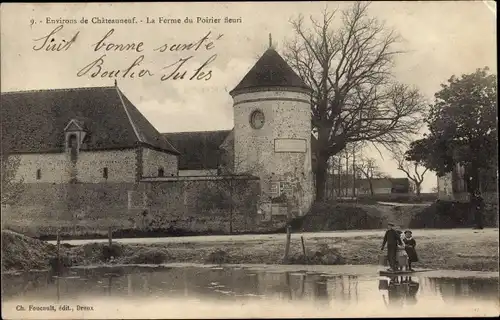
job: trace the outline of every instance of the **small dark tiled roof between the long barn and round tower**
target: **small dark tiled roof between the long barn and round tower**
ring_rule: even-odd
[[[231,130],[163,133],[179,150],[179,170],[217,169],[219,147]]]

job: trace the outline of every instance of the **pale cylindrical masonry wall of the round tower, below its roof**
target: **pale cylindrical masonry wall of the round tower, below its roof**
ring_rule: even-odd
[[[256,110],[265,118],[260,129],[250,124]],[[276,182],[295,176],[302,188],[300,212],[305,214],[314,198],[308,95],[278,89],[238,94],[234,122],[235,172],[258,175],[267,193]]]

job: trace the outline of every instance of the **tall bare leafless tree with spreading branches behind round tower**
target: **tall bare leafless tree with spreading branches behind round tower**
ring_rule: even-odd
[[[396,33],[368,16],[369,4],[356,2],[340,13],[325,10],[322,20],[292,20],[295,38],[285,58],[313,89],[311,112],[316,152],[316,200],[325,196],[328,159],[348,143],[369,141],[391,148],[418,132],[423,98],[394,81]]]

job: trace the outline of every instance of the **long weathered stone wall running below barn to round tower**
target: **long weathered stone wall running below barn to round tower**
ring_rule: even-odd
[[[260,223],[259,194],[259,181],[247,177],[156,178],[139,183],[30,183],[25,185],[17,205],[2,210],[2,222],[34,235],[55,234],[59,227],[68,234],[145,226],[229,232],[230,221],[233,232],[254,231]]]

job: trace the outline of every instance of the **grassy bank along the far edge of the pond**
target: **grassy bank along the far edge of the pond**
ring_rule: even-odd
[[[424,230],[425,231],[425,230]],[[498,229],[449,230],[419,232],[416,235],[420,262],[416,267],[430,269],[498,271]],[[316,234],[315,234],[316,235]],[[292,235],[291,264],[377,264],[381,237],[367,232],[365,236],[307,237],[306,254],[302,254],[300,234]],[[260,239],[178,243],[120,244],[108,248],[105,242],[61,246],[61,255],[69,265],[160,264],[174,262],[282,264],[283,236]],[[10,231],[2,231],[4,271],[50,267],[55,246]],[[112,257],[112,258],[111,258]]]

